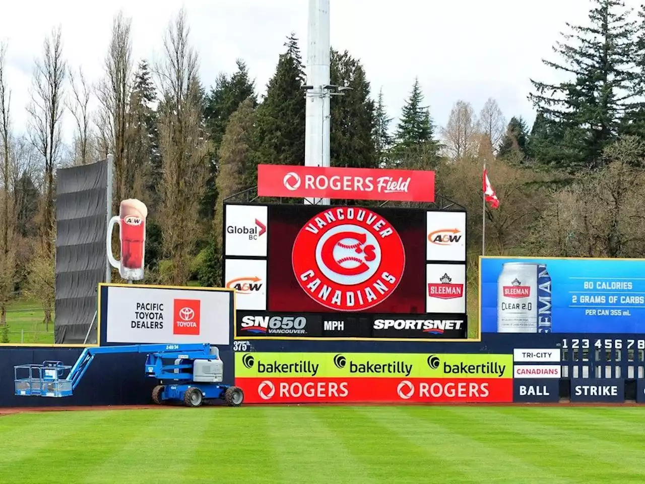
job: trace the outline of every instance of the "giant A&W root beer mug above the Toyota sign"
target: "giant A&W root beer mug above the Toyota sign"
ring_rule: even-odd
[[[121,201],[119,215],[108,223],[107,248],[108,260],[112,267],[119,269],[119,275],[127,281],[141,281],[144,276],[146,250],[146,217],[148,208],[135,198]],[[119,225],[119,246],[121,259],[117,261],[112,254],[112,231]]]

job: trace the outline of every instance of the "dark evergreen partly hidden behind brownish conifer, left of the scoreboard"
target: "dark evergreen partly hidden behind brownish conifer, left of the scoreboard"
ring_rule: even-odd
[[[200,207],[200,214],[204,219],[212,220],[217,201],[217,190],[215,179],[219,170],[217,152],[221,145],[226,125],[230,116],[237,110],[239,105],[246,99],[251,99],[253,108],[257,106],[255,94],[255,83],[248,74],[248,68],[243,60],[237,59],[237,71],[231,76],[220,74],[215,80],[215,86],[204,100],[204,117],[206,126],[210,130],[213,143],[213,154],[209,166],[208,180],[206,181],[206,194]]]

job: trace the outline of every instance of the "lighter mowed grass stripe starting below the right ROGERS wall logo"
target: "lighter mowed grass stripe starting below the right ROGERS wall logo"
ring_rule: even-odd
[[[502,418],[481,419],[473,425],[464,421],[461,412],[453,412],[455,407],[397,407],[392,415],[386,411],[382,419],[388,425],[401,422],[401,427],[415,427],[417,432],[402,437],[417,445],[423,440],[432,441],[433,452],[442,456],[446,464],[464,474],[460,478],[454,471],[446,482],[472,483],[549,483],[568,484],[577,482],[562,475],[550,472],[537,465],[526,456],[511,454],[500,445],[505,439],[513,440],[513,430],[504,427]],[[466,410],[468,407],[459,407]],[[428,411],[430,410],[430,411]],[[517,439],[521,443],[521,439]]]

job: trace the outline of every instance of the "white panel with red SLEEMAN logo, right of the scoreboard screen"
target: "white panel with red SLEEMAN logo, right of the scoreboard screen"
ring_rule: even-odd
[[[426,312],[466,312],[466,265],[426,264]]]

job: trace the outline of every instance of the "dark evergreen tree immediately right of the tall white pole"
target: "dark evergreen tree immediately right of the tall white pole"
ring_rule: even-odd
[[[374,101],[361,63],[347,51],[330,53],[332,85],[347,86],[342,96],[332,96],[330,106],[330,162],[332,166],[375,168],[372,143]]]

